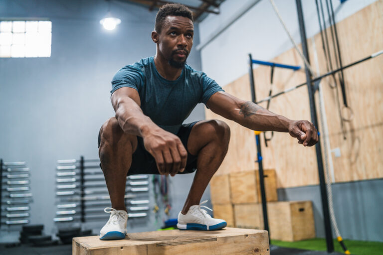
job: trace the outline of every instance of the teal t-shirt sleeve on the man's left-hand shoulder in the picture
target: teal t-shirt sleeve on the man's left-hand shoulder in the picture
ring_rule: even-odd
[[[131,65],[125,66],[113,76],[110,93],[113,94],[113,92],[122,87],[130,87],[140,91],[144,83],[143,79],[143,73],[140,69]]]

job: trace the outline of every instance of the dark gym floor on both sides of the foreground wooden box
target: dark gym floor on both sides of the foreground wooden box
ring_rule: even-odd
[[[0,254],[6,255],[68,255],[72,253],[72,245],[58,245],[50,247],[30,247],[21,245],[18,247],[0,246]],[[278,246],[270,246],[271,255],[328,255],[327,252],[308,251],[294,248],[283,248]],[[341,255],[341,253],[331,253],[331,255]]]

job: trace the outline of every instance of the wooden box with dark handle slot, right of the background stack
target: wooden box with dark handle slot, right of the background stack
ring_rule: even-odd
[[[270,238],[299,241],[315,238],[315,224],[311,201],[267,203]]]

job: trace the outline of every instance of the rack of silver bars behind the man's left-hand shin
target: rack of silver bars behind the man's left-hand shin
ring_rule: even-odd
[[[58,160],[56,167],[56,217],[54,222],[106,222],[110,197],[98,159]],[[126,205],[128,217],[146,217],[149,210],[148,175],[128,176]],[[65,225],[67,226],[67,225]]]

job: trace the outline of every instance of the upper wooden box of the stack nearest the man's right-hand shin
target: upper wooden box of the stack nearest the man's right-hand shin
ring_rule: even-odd
[[[212,204],[230,203],[229,175],[214,175],[210,180],[210,197]]]

